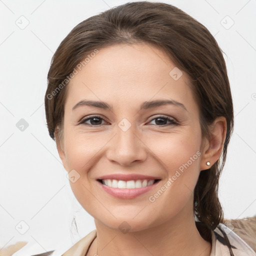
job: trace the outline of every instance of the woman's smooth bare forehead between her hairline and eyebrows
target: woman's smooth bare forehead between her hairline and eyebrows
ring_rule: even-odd
[[[173,79],[173,72],[182,75]],[[188,83],[187,75],[159,48],[146,43],[113,45],[100,48],[78,70],[68,84],[66,104],[86,98],[127,106],[172,98],[196,108]]]

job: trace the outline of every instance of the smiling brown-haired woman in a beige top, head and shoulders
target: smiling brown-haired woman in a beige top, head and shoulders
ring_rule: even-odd
[[[256,255],[222,224],[233,105],[217,42],[180,9],[92,16],[52,57],[49,134],[96,229],[62,255]]]

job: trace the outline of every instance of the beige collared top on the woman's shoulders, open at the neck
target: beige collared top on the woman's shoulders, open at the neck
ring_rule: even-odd
[[[224,224],[218,226],[226,233],[230,244],[232,245],[232,251],[235,256],[256,256],[256,252],[236,235],[231,229],[226,227]],[[92,230],[74,245],[72,245],[67,251],[61,256],[85,256],[88,252],[90,244],[97,236],[96,229]],[[211,252],[210,256],[228,256],[230,255],[227,245],[225,244],[222,233],[218,228],[211,231]]]

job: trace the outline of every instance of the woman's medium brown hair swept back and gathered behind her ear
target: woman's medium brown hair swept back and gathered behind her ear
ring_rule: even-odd
[[[218,180],[233,131],[233,105],[222,51],[208,29],[179,8],[159,2],[128,2],[77,24],[61,41],[48,71],[45,112],[49,135],[61,127],[67,85],[52,91],[95,49],[115,44],[145,42],[159,47],[190,79],[200,110],[202,137],[210,138],[216,117],[226,119],[226,136],[220,158],[201,170],[194,188],[194,214],[208,229],[223,221]],[[60,129],[61,130],[61,129]]]

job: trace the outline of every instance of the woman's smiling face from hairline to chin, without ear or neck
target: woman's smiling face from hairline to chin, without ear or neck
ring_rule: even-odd
[[[70,186],[95,221],[136,231],[193,216],[205,169],[199,109],[186,74],[158,48],[99,49],[68,85],[62,131]]]

